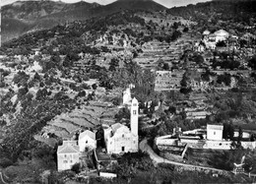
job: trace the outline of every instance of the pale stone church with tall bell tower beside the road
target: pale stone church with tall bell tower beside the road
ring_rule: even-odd
[[[104,142],[107,153],[138,152],[139,102],[135,97],[132,99],[130,112],[130,128],[120,123],[115,123],[104,129]]]

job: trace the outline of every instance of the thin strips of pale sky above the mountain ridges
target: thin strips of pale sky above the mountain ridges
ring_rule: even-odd
[[[6,4],[13,3],[17,0],[0,0],[0,1],[1,1],[2,5],[6,5]],[[66,3],[74,3],[74,2],[78,2],[80,0],[62,0],[62,1],[66,2]],[[84,1],[89,2],[89,3],[96,2],[101,5],[106,5],[108,3],[114,2],[115,0],[84,0]],[[155,0],[155,1],[162,4],[163,6],[165,6],[167,8],[171,8],[174,6],[185,6],[188,4],[196,4],[198,2],[206,2],[209,0]]]

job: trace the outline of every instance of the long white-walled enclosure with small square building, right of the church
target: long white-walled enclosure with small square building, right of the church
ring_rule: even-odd
[[[192,149],[230,150],[232,141],[224,140],[223,132],[224,125],[208,124],[206,129],[195,129],[183,132],[178,138],[175,134],[157,137],[155,139],[155,144],[160,151],[173,150],[174,147],[177,149],[177,146],[180,148],[180,146],[185,145]],[[237,136],[237,134],[238,133],[236,133],[235,136]],[[241,146],[244,149],[254,150],[256,148],[256,142],[250,141],[249,137],[250,135],[243,134],[243,138],[247,138],[247,141],[241,141]]]

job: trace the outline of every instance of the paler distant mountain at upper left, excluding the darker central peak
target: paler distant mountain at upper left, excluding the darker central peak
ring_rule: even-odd
[[[2,41],[27,31],[50,29],[66,21],[88,19],[89,10],[100,6],[87,2],[67,4],[61,1],[17,1],[2,7]]]

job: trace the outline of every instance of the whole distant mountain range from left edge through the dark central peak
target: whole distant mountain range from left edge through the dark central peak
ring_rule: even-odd
[[[3,7],[3,22],[24,22],[17,28],[2,26],[2,31],[8,33],[3,41],[10,40],[27,31],[50,29],[67,21],[88,20],[93,17],[104,17],[122,10],[162,11],[166,8],[153,0],[118,0],[106,6],[96,3],[78,2],[67,4],[55,1],[17,1]],[[28,22],[29,21],[29,22]],[[12,33],[9,33],[12,32]]]

